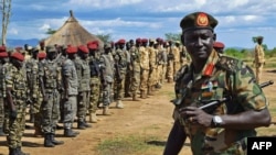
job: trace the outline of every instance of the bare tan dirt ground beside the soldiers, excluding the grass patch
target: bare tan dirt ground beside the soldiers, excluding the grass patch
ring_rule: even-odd
[[[275,81],[275,70],[265,70],[263,81]],[[273,122],[275,122],[276,96],[274,92],[276,91],[276,87],[273,85],[272,87],[264,88],[264,91],[270,100],[269,108],[274,109],[272,114]],[[173,84],[164,84],[155,93],[155,96],[150,96],[147,99],[140,99],[140,101],[131,101],[130,98],[126,98],[124,100],[125,109],[115,109],[113,108],[115,103],[112,103],[110,112],[113,114],[108,117],[100,115],[102,110],[98,110],[97,113],[100,121],[94,123],[91,129],[79,130],[81,134],[77,137],[63,137],[63,130],[57,130],[56,139],[64,141],[65,144],[53,148],[44,147],[43,139],[33,137],[33,129],[26,129],[22,140],[22,150],[31,155],[94,155],[96,154],[95,146],[106,139],[128,134],[151,135],[152,132],[160,137],[159,140],[164,145],[173,122],[171,118],[173,106],[170,103],[170,100],[173,98]],[[29,125],[32,124],[29,123]],[[74,123],[74,128],[76,128],[76,123]],[[268,129],[264,129],[262,134],[275,135],[275,132],[276,126],[272,124]],[[151,155],[161,154],[162,148],[151,153]],[[181,154],[191,155],[189,145],[182,148]],[[8,155],[4,136],[0,137],[0,155]]]

